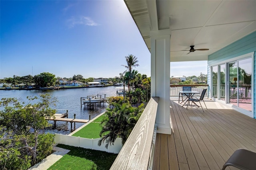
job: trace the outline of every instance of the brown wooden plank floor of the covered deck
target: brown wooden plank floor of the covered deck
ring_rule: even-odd
[[[171,98],[173,133],[157,134],[153,170],[220,170],[235,150],[256,152],[256,119],[205,101],[203,112]]]

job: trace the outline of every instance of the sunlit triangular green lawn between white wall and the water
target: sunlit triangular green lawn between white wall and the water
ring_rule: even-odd
[[[78,132],[74,133],[72,136],[84,137],[88,139],[100,138],[100,131],[102,126],[99,122],[104,118],[104,114],[95,119],[93,122],[89,123],[87,126],[80,129]]]

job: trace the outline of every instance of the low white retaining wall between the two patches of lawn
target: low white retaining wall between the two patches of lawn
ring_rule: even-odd
[[[102,143],[100,146],[98,146],[98,141],[100,138],[97,139],[87,139],[82,137],[74,137],[74,136],[68,136],[68,135],[62,135],[55,133],[55,143],[56,144],[64,144],[64,145],[70,145],[74,147],[81,147],[86,149],[93,149],[93,150],[101,150],[105,152],[110,153],[116,153],[118,154],[120,150],[122,149],[122,139],[117,138],[114,145],[108,145],[108,149],[106,149],[105,145],[106,143]]]

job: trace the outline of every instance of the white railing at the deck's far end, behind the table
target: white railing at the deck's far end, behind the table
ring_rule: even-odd
[[[178,97],[179,91],[182,91],[183,86],[191,86],[192,91],[198,91],[202,93],[204,89],[208,89],[208,84],[178,84],[178,85],[170,85],[170,97]],[[205,97],[208,96],[208,90],[206,90]]]

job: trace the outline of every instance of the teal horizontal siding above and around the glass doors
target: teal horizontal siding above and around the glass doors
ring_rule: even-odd
[[[208,56],[208,65],[216,65],[218,63],[221,63],[222,61],[226,61],[228,59],[232,59],[234,57],[238,57],[247,53],[254,52],[254,82],[256,82],[256,31],[245,36],[244,38],[228,45],[227,47],[224,47],[223,49],[220,49],[219,51],[216,51],[212,55]],[[210,70],[208,68],[208,75],[210,75]],[[209,78],[208,78],[209,79]],[[254,85],[254,82],[252,82],[254,86],[254,118],[256,119],[256,87]],[[209,81],[210,85],[210,81]]]

